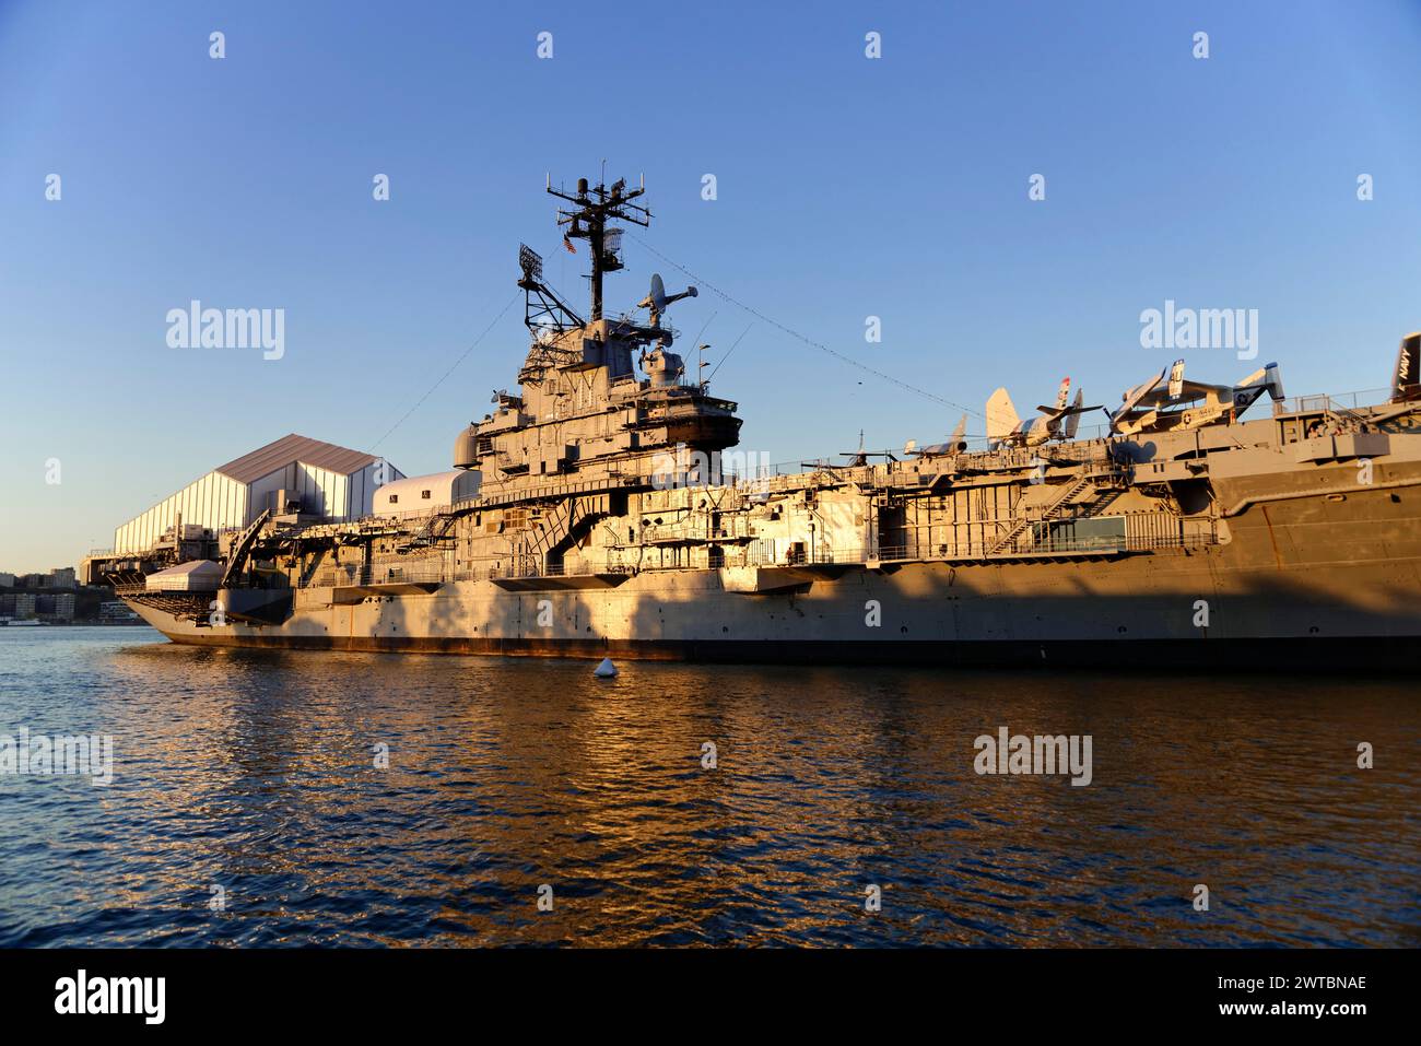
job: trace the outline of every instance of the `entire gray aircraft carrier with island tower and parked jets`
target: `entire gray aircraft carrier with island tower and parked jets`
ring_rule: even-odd
[[[998,389],[983,446],[963,422],[773,475],[672,351],[693,287],[652,277],[603,314],[644,188],[547,190],[564,244],[585,243],[590,316],[520,250],[519,391],[458,433],[453,479],[389,478],[358,517],[281,493],[240,526],[176,520],[85,580],[212,647],[1414,669],[1421,334],[1377,402],[1286,399],[1272,364],[1202,384],[1179,361],[1093,438],[1069,382],[1025,422]]]

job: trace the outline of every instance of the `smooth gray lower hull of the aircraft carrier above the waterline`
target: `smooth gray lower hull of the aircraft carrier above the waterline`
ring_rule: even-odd
[[[176,642],[217,647],[1414,671],[1418,505],[1395,482],[1296,493],[1201,549],[311,587],[277,624],[135,608]]]

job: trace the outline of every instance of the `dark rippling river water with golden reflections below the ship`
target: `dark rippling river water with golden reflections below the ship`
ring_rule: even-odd
[[[0,945],[1421,944],[1414,681],[620,668],[0,628]]]

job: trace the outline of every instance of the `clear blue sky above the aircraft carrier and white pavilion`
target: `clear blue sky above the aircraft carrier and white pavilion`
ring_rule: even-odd
[[[1063,374],[1118,402],[1175,355],[1140,345],[1165,298],[1258,308],[1290,394],[1384,385],[1421,327],[1421,3],[786,7],[0,0],[0,570],[74,563],[291,431],[449,468],[514,384],[520,307],[377,441],[513,297],[520,240],[583,301],[543,179],[604,158],[645,172],[658,250],[978,411]],[[684,286],[628,247],[611,306]],[[169,348],[192,298],[284,308],[284,358]],[[750,317],[703,293],[688,343],[712,313],[716,357]],[[760,321],[715,391],[776,462],[958,416]]]

